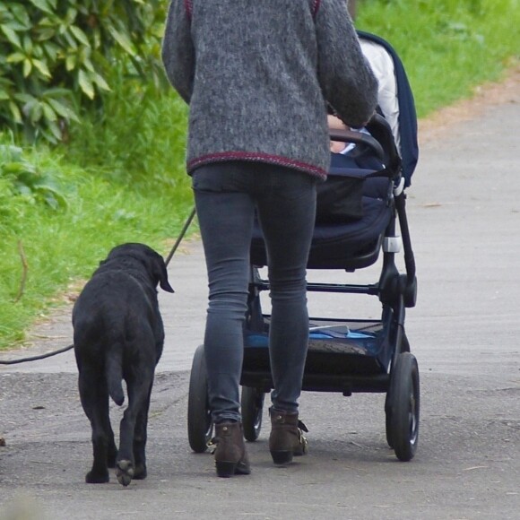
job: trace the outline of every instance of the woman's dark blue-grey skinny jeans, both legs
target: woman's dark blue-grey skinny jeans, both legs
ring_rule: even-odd
[[[275,409],[298,412],[308,350],[306,275],[316,178],[247,161],[204,165],[192,178],[209,285],[204,355],[212,418],[241,420],[239,381],[255,216],[268,258],[271,399]]]

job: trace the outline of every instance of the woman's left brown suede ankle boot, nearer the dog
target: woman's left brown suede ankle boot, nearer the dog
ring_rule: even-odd
[[[214,455],[219,477],[248,475],[251,472],[241,422],[215,424],[213,442],[217,445]]]

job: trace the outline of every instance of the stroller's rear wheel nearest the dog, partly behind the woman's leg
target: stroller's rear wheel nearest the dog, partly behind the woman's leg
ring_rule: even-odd
[[[204,453],[212,439],[213,422],[208,403],[204,345],[195,351],[187,398],[187,438],[195,453]]]

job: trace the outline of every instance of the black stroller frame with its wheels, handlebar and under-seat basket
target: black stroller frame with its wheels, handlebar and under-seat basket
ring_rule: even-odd
[[[363,33],[364,37],[368,37]],[[377,37],[376,37],[377,38]],[[377,43],[382,40],[376,39]],[[395,58],[394,58],[395,59]],[[414,111],[412,116],[414,117]],[[413,120],[412,117],[412,120]],[[371,177],[388,179],[386,204],[388,218],[384,229],[368,242],[352,250],[340,266],[353,272],[375,264],[383,251],[379,279],[371,284],[308,282],[308,292],[358,294],[377,297],[382,304],[381,319],[309,318],[308,357],[303,391],[386,393],[386,441],[401,461],[415,455],[419,437],[420,382],[417,360],[410,351],[405,334],[405,309],[417,299],[417,277],[412,241],[405,211],[404,186],[410,184],[412,171],[403,172],[403,160],[397,152],[392,132],[384,117],[376,116],[370,134],[350,131],[331,133],[334,140],[364,143],[386,165]],[[413,167],[415,164],[413,164]],[[401,243],[396,236],[397,222],[403,243],[405,273],[395,264]],[[269,281],[260,276],[266,264],[258,255],[260,243],[254,238],[252,264],[244,328],[244,362],[240,384],[244,436],[255,441],[262,428],[264,396],[273,388],[269,364],[268,334],[271,316],[263,314],[260,294],[269,290]],[[255,247],[256,242],[256,247]],[[327,268],[318,264],[309,269]],[[207,397],[204,345],[195,351],[188,395],[188,440],[197,453],[204,452],[212,438],[212,418]]]

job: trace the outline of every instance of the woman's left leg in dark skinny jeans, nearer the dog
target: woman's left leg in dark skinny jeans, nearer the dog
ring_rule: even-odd
[[[215,422],[239,421],[255,204],[244,193],[247,176],[226,163],[195,170],[193,187],[209,282],[204,351],[210,407]]]

